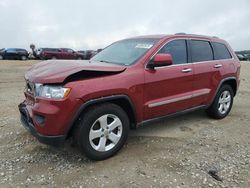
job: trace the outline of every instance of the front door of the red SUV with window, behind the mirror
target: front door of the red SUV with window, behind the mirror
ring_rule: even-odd
[[[170,41],[158,53],[171,54],[173,64],[145,70],[144,119],[192,106],[193,67],[188,63],[186,40]]]

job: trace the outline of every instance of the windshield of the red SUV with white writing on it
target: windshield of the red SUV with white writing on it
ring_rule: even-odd
[[[95,55],[91,61],[131,65],[141,58],[159,39],[140,38],[115,42]]]

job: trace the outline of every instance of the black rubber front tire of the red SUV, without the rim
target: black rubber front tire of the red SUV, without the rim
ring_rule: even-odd
[[[109,151],[99,152],[96,151],[90,144],[89,132],[93,123],[102,115],[114,114],[120,118],[122,122],[122,136],[119,142]],[[122,108],[114,104],[102,104],[91,108],[84,116],[80,122],[79,132],[78,132],[78,145],[80,149],[85,153],[85,155],[92,160],[103,160],[116,154],[124,145],[128,137],[129,130],[129,119],[127,114]]]

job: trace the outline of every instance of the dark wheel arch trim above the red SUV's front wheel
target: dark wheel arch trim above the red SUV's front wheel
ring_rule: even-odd
[[[127,95],[111,95],[111,96],[106,96],[106,97],[100,97],[100,98],[96,98],[96,99],[91,99],[85,103],[83,103],[80,108],[78,109],[77,113],[74,115],[71,123],[68,126],[68,129],[65,132],[65,136],[68,137],[70,131],[72,130],[74,123],[77,121],[77,119],[79,118],[79,116],[81,115],[81,113],[87,109],[89,106],[91,105],[95,105],[95,104],[99,104],[99,103],[103,103],[103,102],[110,102],[110,101],[114,101],[114,100],[119,100],[119,99],[125,99],[127,102],[129,102],[129,105],[132,109],[132,115],[135,117],[136,119],[136,110],[135,107],[131,101],[131,99],[127,96]],[[129,116],[129,114],[128,114]],[[132,126],[134,126],[134,124],[136,124],[136,120],[135,122],[132,122]]]

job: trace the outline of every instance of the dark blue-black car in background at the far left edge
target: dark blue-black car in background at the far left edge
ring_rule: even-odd
[[[6,48],[0,51],[0,60],[27,60],[28,56],[28,51],[22,48]]]

